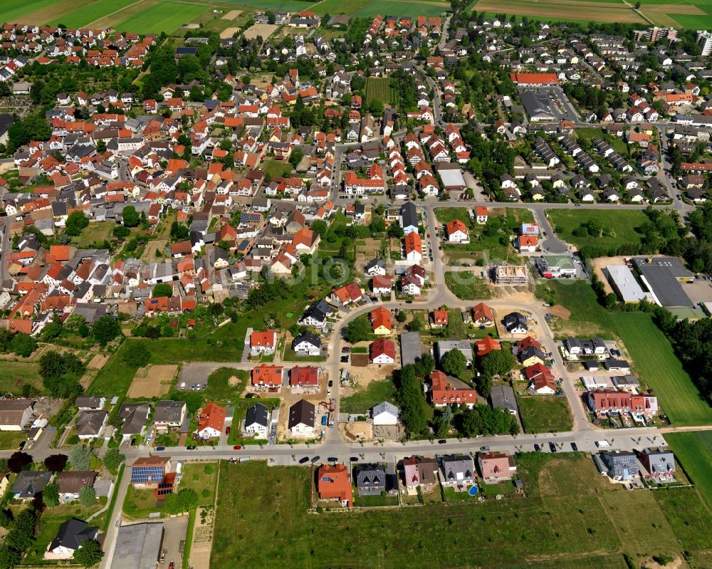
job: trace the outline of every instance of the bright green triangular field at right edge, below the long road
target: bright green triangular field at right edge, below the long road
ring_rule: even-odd
[[[712,431],[667,433],[665,440],[712,509]]]

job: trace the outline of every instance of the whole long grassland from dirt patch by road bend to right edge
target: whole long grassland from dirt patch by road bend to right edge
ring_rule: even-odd
[[[712,407],[703,400],[697,387],[677,359],[672,345],[657,328],[649,314],[615,313],[596,301],[588,283],[576,281],[546,283],[554,291],[555,301],[571,310],[569,320],[554,323],[557,338],[580,333],[590,338],[622,340],[632,359],[634,371],[654,390],[663,411],[672,424],[697,425],[712,422]]]

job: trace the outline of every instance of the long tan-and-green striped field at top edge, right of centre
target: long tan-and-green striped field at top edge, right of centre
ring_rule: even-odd
[[[585,11],[585,18],[600,22],[622,22],[639,24],[644,20],[628,6],[621,4],[600,4],[585,1],[561,1],[553,4],[540,4],[521,0],[481,0],[475,9],[478,11],[504,12],[506,14],[520,14],[523,16],[539,16],[543,18],[571,19],[572,14]]]

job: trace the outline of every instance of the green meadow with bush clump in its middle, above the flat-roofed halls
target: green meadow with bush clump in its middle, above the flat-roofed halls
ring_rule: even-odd
[[[599,221],[604,230],[612,230],[614,235],[595,239],[595,244],[607,249],[617,249],[622,244],[640,243],[637,227],[648,221],[648,216],[638,209],[548,209],[546,215],[560,239],[575,245],[577,249],[591,244],[591,236],[575,236],[572,231],[590,219]]]

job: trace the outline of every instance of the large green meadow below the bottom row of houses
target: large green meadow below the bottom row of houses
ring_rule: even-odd
[[[525,498],[350,515],[307,513],[314,469],[223,462],[211,563],[452,568],[486,559],[490,567],[624,568],[623,552],[680,554],[677,524],[666,518],[674,513],[655,493],[614,492],[582,454],[516,460]],[[269,539],[254,531],[265,525]]]

